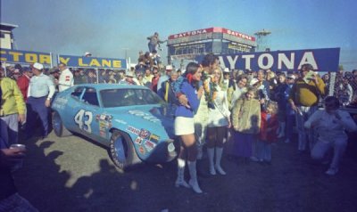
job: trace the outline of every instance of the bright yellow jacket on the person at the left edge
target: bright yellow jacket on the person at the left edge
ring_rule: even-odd
[[[0,116],[11,114],[25,114],[26,104],[19,86],[9,77],[0,78],[0,86],[3,92],[1,98]]]

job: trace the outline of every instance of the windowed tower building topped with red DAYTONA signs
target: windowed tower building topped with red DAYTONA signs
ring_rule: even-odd
[[[194,60],[206,53],[232,54],[255,52],[255,37],[218,27],[196,29],[168,37],[168,62]]]

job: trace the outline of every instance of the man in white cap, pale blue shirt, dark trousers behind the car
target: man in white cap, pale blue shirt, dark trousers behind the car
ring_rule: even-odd
[[[28,126],[27,136],[31,137],[35,129],[35,121],[38,116],[42,124],[42,138],[46,138],[49,133],[48,107],[51,105],[51,99],[54,96],[54,82],[50,77],[43,73],[44,66],[35,62],[32,66],[33,77],[29,80],[28,91]]]

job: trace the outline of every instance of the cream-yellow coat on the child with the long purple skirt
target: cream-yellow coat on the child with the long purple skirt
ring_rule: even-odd
[[[261,104],[258,100],[239,99],[232,109],[233,128],[243,134],[258,134],[261,128]]]

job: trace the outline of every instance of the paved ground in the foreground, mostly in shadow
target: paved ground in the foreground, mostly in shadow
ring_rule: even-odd
[[[271,165],[225,157],[228,175],[201,177],[199,195],[173,186],[173,162],[123,173],[104,148],[78,136],[51,134],[25,144],[28,157],[15,179],[21,195],[40,211],[357,211],[352,150],[333,177],[324,174],[326,165],[298,154],[296,143],[274,145]],[[201,167],[206,166],[203,160]]]

